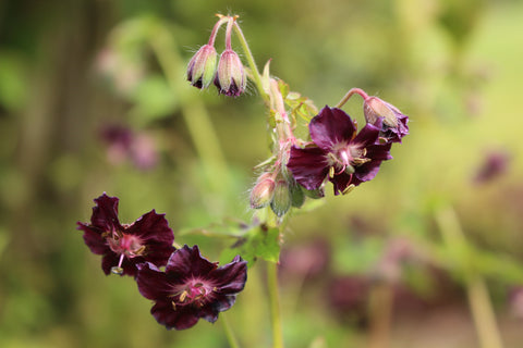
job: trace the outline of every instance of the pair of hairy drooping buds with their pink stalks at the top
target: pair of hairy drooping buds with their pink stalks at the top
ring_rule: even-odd
[[[229,97],[238,97],[245,91],[247,77],[242,61],[231,45],[232,27],[238,25],[236,16],[218,16],[220,20],[212,28],[209,42],[203,46],[188,62],[187,80],[194,87],[200,89],[205,89],[214,83],[218,92]],[[226,22],[226,49],[218,61],[215,40],[218,29]]]

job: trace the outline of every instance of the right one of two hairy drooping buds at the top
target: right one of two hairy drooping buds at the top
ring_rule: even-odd
[[[226,49],[218,62],[215,85],[220,94],[238,97],[245,91],[247,83],[245,70],[236,52]]]

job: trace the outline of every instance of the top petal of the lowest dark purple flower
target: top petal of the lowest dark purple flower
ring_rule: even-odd
[[[202,257],[198,246],[187,245],[174,251],[167,262],[166,273],[173,277],[203,276],[204,278],[217,264]]]

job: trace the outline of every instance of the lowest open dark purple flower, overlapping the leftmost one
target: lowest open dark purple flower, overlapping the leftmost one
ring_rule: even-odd
[[[150,262],[138,264],[139,293],[156,303],[150,313],[167,328],[185,330],[199,319],[214,323],[234,304],[247,279],[247,262],[235,257],[219,268],[203,258],[197,246],[172,253],[162,272]]]

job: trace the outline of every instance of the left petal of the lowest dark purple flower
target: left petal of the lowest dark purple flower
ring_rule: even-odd
[[[172,295],[174,284],[169,281],[166,273],[149,262],[141,263],[137,268],[136,284],[142,296],[150,300],[158,300]]]

